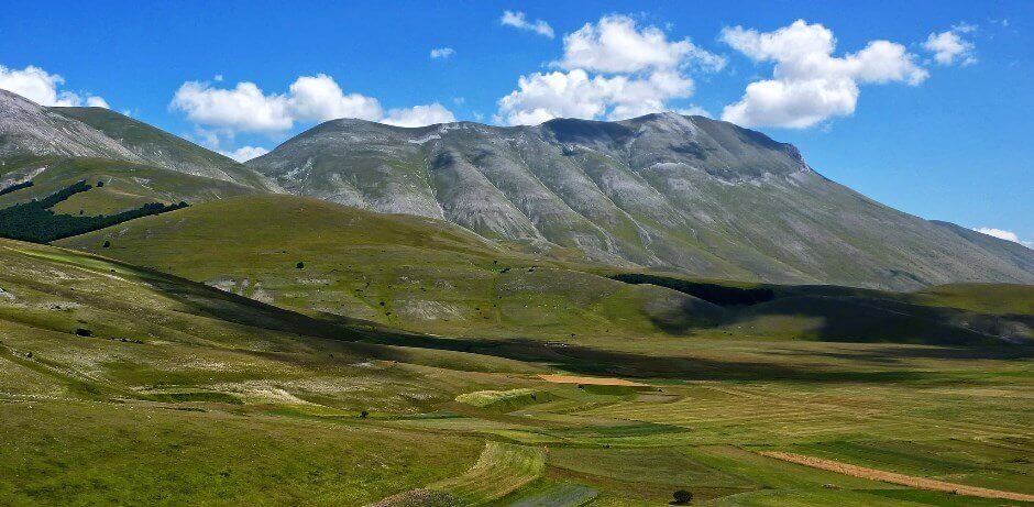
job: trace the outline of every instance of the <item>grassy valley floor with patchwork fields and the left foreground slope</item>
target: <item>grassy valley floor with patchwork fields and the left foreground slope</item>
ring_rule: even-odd
[[[1025,345],[440,338],[50,246],[2,241],[0,265],[0,505],[1034,495]]]

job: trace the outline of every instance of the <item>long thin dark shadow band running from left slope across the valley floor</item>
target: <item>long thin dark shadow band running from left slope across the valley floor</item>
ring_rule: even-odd
[[[118,261],[106,260],[112,266],[132,273],[166,296],[186,307],[186,312],[220,319],[254,328],[292,333],[299,339],[318,337],[349,342],[356,354],[369,357],[406,361],[403,349],[420,348],[441,351],[466,352],[504,357],[531,363],[551,364],[565,371],[586,374],[625,377],[650,377],[672,379],[708,381],[774,381],[795,379],[809,382],[953,382],[950,374],[928,371],[893,370],[861,371],[846,368],[817,368],[794,366],[778,361],[757,363],[717,361],[691,356],[656,356],[624,351],[594,349],[582,345],[549,346],[546,342],[529,339],[476,339],[440,338],[396,331],[376,327],[369,322],[339,316],[308,316],[285,310],[253,299],[224,293],[204,284],[173,275],[141,268]],[[692,338],[686,338],[692,340]],[[868,345],[879,346],[879,345]],[[804,354],[803,352],[792,352]],[[950,360],[975,359],[1032,359],[1034,348],[998,343],[981,348],[933,348],[888,345],[886,349],[865,352],[825,352],[837,359],[862,359],[869,361],[893,357],[930,357]],[[776,355],[773,355],[776,357]]]

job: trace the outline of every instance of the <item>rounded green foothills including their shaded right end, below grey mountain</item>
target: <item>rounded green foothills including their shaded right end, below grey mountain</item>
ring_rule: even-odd
[[[506,250],[448,222],[284,195],[200,203],[58,244],[284,308],[443,335],[977,344],[1024,341],[1034,327],[1022,315],[939,308],[902,293],[754,284],[772,296],[744,301],[735,296],[751,284],[626,283],[607,277],[623,273],[613,267]]]

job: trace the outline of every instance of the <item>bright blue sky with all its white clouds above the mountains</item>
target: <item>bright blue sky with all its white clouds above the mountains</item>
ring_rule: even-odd
[[[704,111],[901,210],[1034,241],[1034,2],[902,3],[15,0],[0,87],[228,153],[336,115]]]

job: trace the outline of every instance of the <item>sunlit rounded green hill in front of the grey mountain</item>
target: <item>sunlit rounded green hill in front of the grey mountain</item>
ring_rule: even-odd
[[[180,211],[61,244],[283,307],[440,334],[652,333],[652,319],[694,301],[536,260],[425,218],[283,195]],[[111,247],[101,250],[106,239]]]

